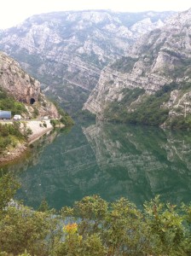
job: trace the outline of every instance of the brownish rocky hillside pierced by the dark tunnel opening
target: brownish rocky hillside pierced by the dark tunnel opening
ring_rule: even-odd
[[[9,96],[25,104],[26,110],[22,114],[23,117],[48,115],[49,118],[59,118],[55,105],[41,93],[38,80],[32,78],[21,69],[17,61],[3,52],[0,52],[0,89],[0,92],[5,90]]]

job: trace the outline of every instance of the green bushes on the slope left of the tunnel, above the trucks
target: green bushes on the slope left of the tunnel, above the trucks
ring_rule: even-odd
[[[9,96],[5,90],[0,87],[0,109],[9,110],[12,115],[26,113],[25,105],[14,100],[14,97]]]

